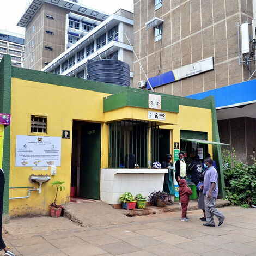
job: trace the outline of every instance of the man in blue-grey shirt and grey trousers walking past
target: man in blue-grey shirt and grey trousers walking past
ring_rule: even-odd
[[[214,227],[214,215],[218,218],[218,225],[222,225],[225,216],[222,212],[215,208],[215,201],[218,197],[218,173],[217,170],[212,166],[212,159],[210,157],[204,160],[204,167],[207,168],[204,175],[204,204],[206,213],[206,223],[204,226]]]

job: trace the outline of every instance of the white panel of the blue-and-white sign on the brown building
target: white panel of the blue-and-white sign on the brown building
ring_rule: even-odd
[[[175,81],[214,69],[214,58],[209,57],[173,70]]]

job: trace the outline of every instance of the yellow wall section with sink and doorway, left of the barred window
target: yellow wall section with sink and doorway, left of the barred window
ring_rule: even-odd
[[[11,86],[11,137],[10,137],[10,187],[35,186],[28,181],[33,174],[48,174],[48,171],[32,170],[32,167],[15,167],[16,135],[31,135],[29,114],[47,115],[48,136],[62,136],[62,130],[70,130],[72,138],[73,119],[103,122],[103,97],[106,93],[12,78]],[[108,127],[102,125],[102,149],[108,142]],[[57,167],[57,175],[51,181],[65,180],[66,190],[60,192],[57,203],[69,202],[72,139],[62,139],[62,166]],[[107,155],[107,154],[106,154]],[[101,166],[107,167],[107,157],[102,157]],[[28,199],[9,202],[9,215],[46,214],[54,198],[55,190],[50,182],[42,185],[42,193],[31,192]],[[27,189],[10,190],[10,197],[27,196]]]

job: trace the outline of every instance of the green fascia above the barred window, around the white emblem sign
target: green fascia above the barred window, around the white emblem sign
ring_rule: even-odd
[[[104,112],[121,107],[149,108],[148,93],[144,90],[127,89],[104,98]],[[179,113],[178,99],[172,95],[161,96],[161,111]]]

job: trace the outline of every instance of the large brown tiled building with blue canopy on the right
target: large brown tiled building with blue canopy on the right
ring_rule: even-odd
[[[144,71],[135,59],[133,86],[145,84],[145,72],[155,92],[215,95],[220,139],[248,163],[256,148],[255,82],[246,82],[256,77],[254,3],[134,1],[133,45]]]

